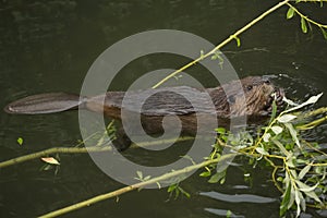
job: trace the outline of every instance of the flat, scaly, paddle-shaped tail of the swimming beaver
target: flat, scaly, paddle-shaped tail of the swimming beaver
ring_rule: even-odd
[[[61,112],[76,109],[85,98],[65,93],[47,93],[28,96],[9,104],[4,111],[8,113],[39,114]]]

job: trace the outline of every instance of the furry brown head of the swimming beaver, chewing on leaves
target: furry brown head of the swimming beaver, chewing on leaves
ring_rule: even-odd
[[[283,90],[266,77],[249,76],[213,89],[210,96],[222,117],[262,117],[271,112],[274,99],[282,105]]]

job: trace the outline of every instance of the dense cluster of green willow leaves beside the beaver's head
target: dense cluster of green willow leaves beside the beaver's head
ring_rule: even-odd
[[[317,143],[306,142],[301,137],[301,131],[306,126],[312,129],[320,122],[312,121],[307,125],[308,118],[326,112],[326,108],[319,108],[308,112],[296,112],[307,105],[315,104],[322,94],[311,97],[301,105],[291,100],[284,111],[276,116],[276,108],[267,126],[258,130],[258,137],[254,140],[250,133],[230,133],[225,129],[216,129],[217,143],[211,155],[207,159],[219,158],[219,152],[229,147],[233,152],[252,159],[252,164],[266,161],[272,167],[271,178],[275,185],[282,193],[280,203],[280,216],[296,208],[296,217],[305,211],[307,204],[318,208],[326,208],[326,175],[327,154]],[[319,119],[318,119],[319,120]],[[210,177],[209,183],[223,183],[226,170],[213,173],[215,165],[207,166],[201,177]]]

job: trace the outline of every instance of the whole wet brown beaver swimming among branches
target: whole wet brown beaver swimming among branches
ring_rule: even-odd
[[[122,112],[124,112],[128,120],[131,118],[129,129],[133,129],[133,114],[140,113],[142,126],[148,134],[162,133],[162,119],[178,116],[182,124],[182,133],[195,134],[198,116],[204,122],[210,122],[209,116],[206,114],[214,112],[220,121],[219,125],[220,123],[225,125],[226,120],[237,117],[262,119],[269,116],[274,93],[277,105],[282,105],[283,90],[281,88],[275,87],[266,77],[249,76],[206,89],[177,86],[126,93],[108,92],[94,97],[80,97],[65,93],[39,94],[13,101],[4,108],[4,111],[38,114],[61,112],[80,107],[101,112],[116,120],[121,120]],[[126,95],[128,100],[124,99]],[[192,102],[189,99],[192,99]],[[122,150],[129,147],[130,141],[124,136],[123,130],[120,130],[119,135],[125,140],[123,143],[116,143],[125,144],[117,145]]]

